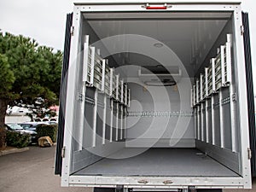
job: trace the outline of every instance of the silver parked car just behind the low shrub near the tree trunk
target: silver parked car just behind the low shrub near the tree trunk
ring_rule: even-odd
[[[30,143],[38,143],[38,133],[36,131],[23,129],[22,126],[16,123],[5,124],[5,127],[8,131],[16,131],[19,132],[20,134],[29,134],[31,136]]]

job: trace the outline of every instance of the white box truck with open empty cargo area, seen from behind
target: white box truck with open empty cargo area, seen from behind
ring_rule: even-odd
[[[250,51],[237,0],[74,3],[55,157],[61,186],[250,189]]]

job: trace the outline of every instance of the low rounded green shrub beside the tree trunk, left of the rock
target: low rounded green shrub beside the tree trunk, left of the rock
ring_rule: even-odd
[[[26,133],[19,133],[15,131],[6,132],[6,143],[8,146],[15,148],[25,148],[30,143],[30,135]]]

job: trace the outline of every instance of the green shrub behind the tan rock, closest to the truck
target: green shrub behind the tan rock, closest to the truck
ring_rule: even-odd
[[[38,137],[44,137],[49,136],[53,143],[56,142],[57,137],[57,131],[58,131],[58,125],[38,125],[37,132]]]

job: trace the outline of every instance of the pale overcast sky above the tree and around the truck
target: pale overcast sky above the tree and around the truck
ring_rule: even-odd
[[[241,1],[242,9],[249,13],[255,76],[256,1]],[[71,12],[73,0],[0,0],[0,29],[3,32],[34,38],[40,45],[62,50],[66,15]]]

